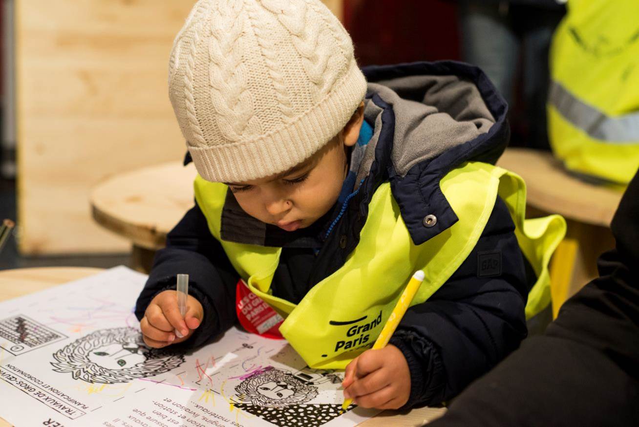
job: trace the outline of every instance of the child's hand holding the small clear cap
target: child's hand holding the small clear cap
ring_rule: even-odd
[[[151,300],[140,321],[142,338],[154,348],[181,343],[191,336],[203,317],[202,304],[192,295],[187,295],[187,313],[182,318],[177,291],[162,291]]]

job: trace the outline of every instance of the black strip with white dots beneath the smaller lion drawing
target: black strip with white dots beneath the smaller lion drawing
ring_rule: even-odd
[[[342,414],[342,405],[335,403],[290,405],[282,408],[267,408],[259,405],[250,405],[249,403],[236,403],[235,407],[280,427],[321,426]],[[353,408],[355,408],[355,405],[348,407],[346,412]]]

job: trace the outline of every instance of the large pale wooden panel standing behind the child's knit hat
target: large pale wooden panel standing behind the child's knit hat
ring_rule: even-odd
[[[126,251],[91,219],[89,190],[183,156],[167,64],[194,1],[15,1],[20,251]]]

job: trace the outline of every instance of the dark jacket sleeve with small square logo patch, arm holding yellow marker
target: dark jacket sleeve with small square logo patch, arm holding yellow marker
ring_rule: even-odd
[[[491,268],[482,270],[482,260]],[[410,368],[406,407],[449,400],[519,346],[527,334],[525,262],[498,198],[468,258],[431,298],[408,309],[390,340]]]

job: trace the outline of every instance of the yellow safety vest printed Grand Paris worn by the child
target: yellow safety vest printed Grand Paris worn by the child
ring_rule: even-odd
[[[196,178],[196,201],[208,227],[251,291],[282,317],[282,336],[311,368],[343,369],[370,348],[390,316],[410,277],[426,275],[412,304],[427,300],[468,257],[488,222],[497,194],[505,201],[516,226],[523,254],[537,274],[528,295],[530,317],[550,302],[548,261],[564,237],[559,215],[524,219],[525,184],[513,173],[481,162],[467,162],[440,180],[459,221],[427,242],[415,245],[399,214],[389,183],[374,192],[360,242],[343,267],[316,284],[293,304],[274,297],[270,288],[281,248],[239,244],[220,238],[227,186]]]

